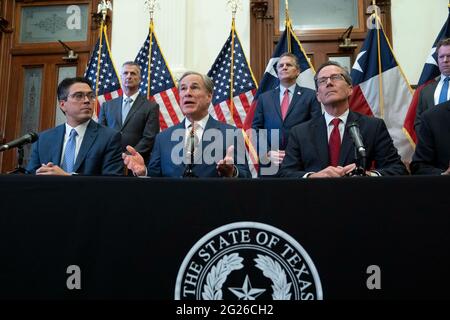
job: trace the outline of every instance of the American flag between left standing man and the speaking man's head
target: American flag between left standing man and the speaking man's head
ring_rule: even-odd
[[[180,123],[184,115],[179,105],[178,89],[166,60],[159,48],[158,40],[150,22],[150,31],[141,50],[134,59],[141,66],[142,81],[140,92],[147,99],[159,104],[159,124],[161,130]],[[150,64],[150,69],[148,65]]]

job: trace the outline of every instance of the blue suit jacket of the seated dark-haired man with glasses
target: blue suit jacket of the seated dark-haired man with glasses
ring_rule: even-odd
[[[43,131],[33,144],[27,170],[36,173],[42,163],[60,165],[66,125]],[[91,120],[75,160],[74,172],[82,175],[123,175],[120,134]]]

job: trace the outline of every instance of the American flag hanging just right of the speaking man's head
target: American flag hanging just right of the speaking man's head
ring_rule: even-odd
[[[233,52],[231,51],[232,41],[234,42]],[[233,65],[233,78],[231,65]],[[209,70],[208,76],[214,82],[214,96],[209,113],[219,121],[242,128],[257,85],[234,28],[231,29],[230,36]]]

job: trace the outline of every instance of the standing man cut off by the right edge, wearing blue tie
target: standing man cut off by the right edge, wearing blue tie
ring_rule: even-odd
[[[436,45],[437,62],[441,75],[436,81],[427,84],[419,94],[414,129],[419,132],[422,113],[432,107],[450,100],[450,38],[443,39]]]

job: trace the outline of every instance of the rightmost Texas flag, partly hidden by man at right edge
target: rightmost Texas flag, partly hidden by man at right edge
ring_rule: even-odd
[[[441,75],[437,63],[436,45],[440,40],[450,38],[450,4],[448,5],[448,7],[449,16],[447,17],[447,21],[445,21],[444,25],[442,26],[441,32],[439,32],[436,40],[434,41],[427,61],[425,61],[425,65],[422,69],[422,74],[420,75],[419,83],[417,84],[417,89],[414,92],[413,100],[411,102],[411,105],[409,106],[408,114],[406,115],[404,130],[408,134],[411,141],[413,141],[414,143],[417,142],[416,131],[414,130],[414,121],[416,120],[416,111],[417,104],[419,103],[420,91],[422,91],[423,87],[425,87],[430,82],[435,81],[435,79]]]

